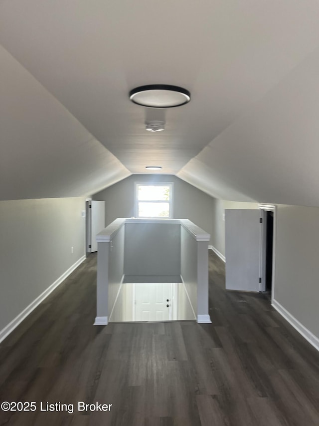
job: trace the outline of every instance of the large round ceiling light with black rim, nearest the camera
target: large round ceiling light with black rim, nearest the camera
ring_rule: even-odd
[[[188,90],[168,84],[149,84],[130,91],[130,99],[149,108],[172,108],[190,101]]]

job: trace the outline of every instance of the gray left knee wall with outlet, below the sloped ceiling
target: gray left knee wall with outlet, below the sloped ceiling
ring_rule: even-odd
[[[85,254],[82,210],[84,198],[0,202],[0,330]]]

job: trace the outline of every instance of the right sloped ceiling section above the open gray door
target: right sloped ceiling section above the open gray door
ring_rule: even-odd
[[[221,198],[319,206],[319,48],[177,176]]]

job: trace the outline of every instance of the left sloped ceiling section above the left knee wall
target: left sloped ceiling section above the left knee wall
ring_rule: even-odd
[[[1,200],[82,196],[130,175],[3,48],[0,63]]]

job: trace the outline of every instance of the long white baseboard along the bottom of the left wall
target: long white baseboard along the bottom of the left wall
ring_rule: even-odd
[[[84,260],[86,255],[77,260],[67,271],[64,272],[53,284],[30,303],[19,315],[17,315],[7,326],[0,331],[0,343],[4,340],[53,290],[58,287]]]

